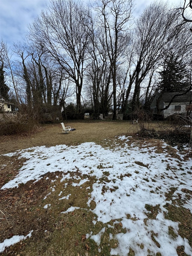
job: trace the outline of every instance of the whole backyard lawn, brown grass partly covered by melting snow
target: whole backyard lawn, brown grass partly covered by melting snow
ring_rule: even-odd
[[[191,255],[186,149],[129,121],[65,125],[1,137],[0,250],[32,231],[2,255]]]

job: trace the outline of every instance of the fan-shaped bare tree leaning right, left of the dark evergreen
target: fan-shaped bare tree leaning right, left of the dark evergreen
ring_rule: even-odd
[[[158,19],[157,19],[158,17]],[[164,47],[169,40],[169,31],[176,20],[173,11],[167,11],[167,4],[154,2],[147,6],[136,23],[137,61],[132,77],[135,88],[132,98],[132,110],[139,106],[140,85],[154,67],[158,67]]]

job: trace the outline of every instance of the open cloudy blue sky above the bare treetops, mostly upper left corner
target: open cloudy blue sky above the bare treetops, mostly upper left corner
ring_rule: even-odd
[[[135,1],[135,16],[138,16],[146,5],[155,0]],[[85,0],[85,2],[89,2]],[[180,3],[180,0],[169,0],[170,3]],[[32,23],[41,10],[46,9],[49,0],[0,0],[0,38],[12,47],[13,42],[23,42]]]

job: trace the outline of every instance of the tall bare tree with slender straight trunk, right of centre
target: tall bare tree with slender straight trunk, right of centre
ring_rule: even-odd
[[[110,60],[113,81],[113,120],[116,120],[116,72],[117,66],[122,63],[128,38],[128,22],[131,19],[133,8],[132,0],[101,0],[96,2],[101,26],[105,31],[107,53]]]

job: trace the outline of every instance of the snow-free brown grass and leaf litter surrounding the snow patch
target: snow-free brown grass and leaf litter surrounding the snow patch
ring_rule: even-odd
[[[105,139],[110,140],[115,136],[125,134],[133,135],[139,130],[139,126],[132,125],[130,121],[100,120],[90,122],[85,120],[64,123],[65,125],[73,125],[76,130],[64,134],[59,123],[44,125],[32,134],[1,137],[0,187],[18,173],[19,168],[25,161],[24,159],[18,159],[18,156],[6,157],[2,154],[33,146],[55,146],[60,144],[70,146],[84,142],[102,144]],[[159,126],[155,123],[152,123],[151,126],[157,130],[159,129]],[[138,139],[136,138],[136,140]],[[156,143],[156,146],[161,148],[159,140],[147,139],[146,147],[148,147],[148,143]],[[143,147],[143,144],[144,140],[137,142],[139,147]],[[175,152],[172,153],[174,154]],[[139,162],[138,164],[142,163]],[[73,174],[74,176],[79,175],[75,172]],[[107,171],[104,174],[107,176]],[[69,200],[59,201],[56,198],[58,198],[60,191],[64,190],[64,182],[61,183],[60,179],[57,179],[54,183],[56,185],[55,192],[51,193],[49,198],[44,200],[44,197],[50,192],[50,186],[53,185],[51,180],[55,180],[56,175],[59,178],[62,177],[62,174],[59,172],[47,173],[46,176],[49,176],[49,179],[46,179],[46,176],[44,176],[36,183],[29,181],[25,185],[20,184],[18,188],[0,190],[0,210],[3,212],[0,212],[0,241],[13,235],[26,235],[30,230],[34,230],[31,239],[26,239],[7,247],[3,255],[110,255],[110,248],[116,248],[118,241],[115,239],[109,240],[109,234],[124,233],[125,230],[122,229],[121,222],[117,223],[114,229],[106,229],[106,232],[101,237],[102,251],[98,253],[98,247],[95,242],[92,239],[85,239],[85,234],[90,233],[91,230],[93,230],[93,234],[97,234],[105,224],[97,222],[94,226],[92,221],[95,216],[89,210],[79,209],[68,214],[61,214],[61,211],[65,211],[73,204],[81,208],[88,208],[86,204],[88,192],[91,192],[92,184],[96,182],[95,177],[90,177],[89,182],[82,185],[81,190],[79,190],[79,187],[71,185],[72,180],[67,181],[68,185],[63,196],[67,194],[72,195]],[[105,178],[107,179],[107,177]],[[90,186],[89,191],[86,189],[87,186]],[[44,209],[43,206],[48,203],[51,203],[51,207]],[[94,209],[94,203],[92,201],[90,209]],[[170,212],[171,210],[169,209]],[[154,213],[156,214],[155,208]],[[186,216],[190,219],[189,213],[186,211],[184,213],[181,212],[181,216]],[[169,218],[168,215],[167,218]],[[180,221],[180,218],[178,217],[177,220]],[[121,221],[121,219],[112,220],[111,222],[113,221]],[[113,223],[110,224],[113,225]],[[183,227],[185,225],[190,227],[189,223],[182,223]],[[90,248],[89,250],[87,250],[87,246]],[[130,250],[128,255],[134,255],[134,251]]]

